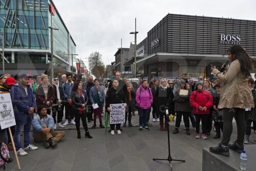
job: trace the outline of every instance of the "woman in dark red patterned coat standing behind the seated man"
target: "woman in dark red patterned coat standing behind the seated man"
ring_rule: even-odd
[[[54,88],[49,83],[48,75],[41,74],[41,84],[36,90],[36,105],[45,104],[47,106],[47,114],[50,115],[54,100]]]

